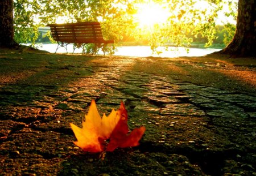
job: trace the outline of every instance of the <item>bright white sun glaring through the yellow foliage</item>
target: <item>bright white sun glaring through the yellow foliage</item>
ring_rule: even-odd
[[[155,24],[167,22],[170,12],[163,5],[150,2],[139,4],[138,12],[134,15],[140,27],[152,27]]]

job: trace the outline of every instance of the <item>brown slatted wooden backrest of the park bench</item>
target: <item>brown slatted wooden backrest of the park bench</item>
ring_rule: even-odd
[[[67,43],[104,42],[99,22],[48,24],[55,41]]]

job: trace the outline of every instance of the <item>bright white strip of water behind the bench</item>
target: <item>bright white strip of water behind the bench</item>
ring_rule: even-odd
[[[49,51],[50,53],[55,53],[55,50],[57,48],[57,44],[44,44],[42,46],[42,50]],[[73,45],[68,45],[68,52],[73,52]],[[134,57],[148,57],[148,56],[154,56],[154,57],[180,57],[180,56],[203,56],[210,53],[213,53],[215,51],[219,51],[220,49],[212,49],[212,48],[206,48],[206,49],[200,49],[200,48],[190,48],[189,53],[184,48],[175,48],[175,47],[169,47],[168,51],[165,50],[164,47],[159,48],[162,53],[161,54],[152,54],[152,50],[150,49],[150,46],[119,46],[117,47],[117,51],[115,51],[114,55],[121,55],[121,56],[134,56]],[[81,53],[82,49],[76,49],[75,53]],[[57,53],[66,53],[65,48],[59,48],[57,50]],[[100,51],[98,54],[103,54],[102,51]]]

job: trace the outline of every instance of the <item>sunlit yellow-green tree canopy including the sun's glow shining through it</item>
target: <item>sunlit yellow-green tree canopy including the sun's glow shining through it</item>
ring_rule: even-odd
[[[237,1],[229,0],[14,0],[15,41],[33,43],[38,35],[32,33],[48,23],[99,21],[106,38],[147,40],[153,50],[189,46],[199,35],[209,46],[217,37],[218,12],[225,3],[232,8],[226,15],[236,16]]]

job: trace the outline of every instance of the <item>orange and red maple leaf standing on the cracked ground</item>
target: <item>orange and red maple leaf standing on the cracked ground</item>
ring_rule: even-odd
[[[82,128],[71,123],[71,128],[77,139],[74,144],[88,152],[112,152],[117,147],[139,145],[138,141],[142,138],[146,128],[135,128],[128,134],[127,120],[127,111],[122,102],[117,111],[113,109],[108,117],[104,113],[101,118],[96,102],[92,100],[88,114],[85,115],[85,121],[82,121]],[[108,139],[109,143],[106,142]]]

